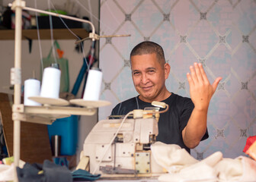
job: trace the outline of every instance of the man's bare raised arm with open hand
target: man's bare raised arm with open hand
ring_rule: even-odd
[[[210,99],[215,93],[221,77],[217,77],[211,85],[202,64],[194,63],[190,66],[190,74],[187,73],[187,80],[190,85],[190,98],[194,102],[194,110],[187,122],[187,126],[182,130],[184,144],[193,149],[198,146],[207,127],[207,111]]]

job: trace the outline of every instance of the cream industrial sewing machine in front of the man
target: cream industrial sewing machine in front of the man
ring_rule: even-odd
[[[102,177],[152,177],[165,173],[153,158],[150,145],[158,135],[159,114],[165,108],[133,110],[125,118],[99,121],[85,139],[77,168]],[[128,118],[133,115],[133,118]]]

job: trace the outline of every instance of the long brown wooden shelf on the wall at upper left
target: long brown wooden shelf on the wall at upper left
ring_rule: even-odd
[[[71,29],[80,38],[89,36],[85,29]],[[51,39],[50,29],[40,29],[40,39]],[[13,40],[15,30],[0,30],[0,40]],[[22,39],[38,39],[37,30],[22,30]],[[53,29],[53,39],[76,39],[67,29]]]

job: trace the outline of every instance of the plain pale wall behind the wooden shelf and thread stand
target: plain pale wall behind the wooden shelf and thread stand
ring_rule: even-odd
[[[89,3],[91,2],[91,13],[93,14],[93,24],[98,30],[98,14],[99,14],[99,2],[95,0],[87,0],[80,1],[85,8],[88,10]],[[6,6],[8,3],[12,1],[3,1],[3,5]],[[25,1],[28,7],[34,8],[34,1]],[[62,0],[51,0],[56,8],[61,8],[63,5]],[[76,1],[73,1],[76,2]],[[80,11],[79,16],[88,16],[90,14],[85,8],[79,5]],[[39,9],[47,9],[47,1],[37,1],[37,8]],[[82,53],[75,52],[75,40],[58,40],[61,49],[65,52],[64,57],[69,59],[69,78],[70,78],[70,89],[75,83],[76,77],[78,75],[78,71],[80,67],[82,67]],[[43,57],[46,57],[50,51],[51,41],[50,40],[41,40],[40,44],[42,46]],[[85,55],[88,54],[88,50],[91,46],[91,41],[85,42]],[[4,40],[0,41],[0,92],[1,93],[13,93],[12,90],[8,89],[10,84],[10,69],[14,67],[14,40]],[[36,71],[36,77],[40,78],[40,51],[39,51],[39,41],[33,40],[32,42],[32,52],[29,53],[28,41],[22,41],[22,55],[21,55],[21,77],[22,83],[24,84],[24,80],[33,76],[33,71]],[[83,84],[83,83],[82,83]],[[82,86],[81,86],[82,88]],[[82,90],[79,90],[77,97],[82,96]],[[78,125],[78,157],[79,153],[82,150],[82,144],[85,141],[85,137],[91,130],[91,128],[98,121],[98,114],[94,116],[82,116]]]

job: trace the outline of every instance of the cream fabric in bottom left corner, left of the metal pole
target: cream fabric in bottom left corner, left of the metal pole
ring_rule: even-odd
[[[0,164],[0,181],[14,180],[14,164],[2,165]]]

